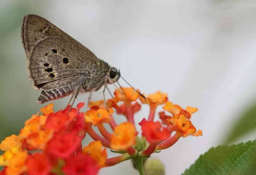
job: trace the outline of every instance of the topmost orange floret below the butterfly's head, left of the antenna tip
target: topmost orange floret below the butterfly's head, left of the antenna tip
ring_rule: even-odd
[[[125,92],[125,94],[122,94],[121,91]],[[120,101],[135,101],[137,100],[139,97],[140,97],[140,94],[138,92],[140,92],[138,89],[136,92],[132,87],[123,87],[122,89],[116,89],[114,94],[115,94],[115,100],[117,102],[120,102]]]

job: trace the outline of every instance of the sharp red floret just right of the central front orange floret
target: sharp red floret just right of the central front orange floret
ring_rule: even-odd
[[[162,128],[159,121],[141,121],[142,136],[146,137],[147,141],[151,143],[158,143],[170,137],[170,131],[167,128]],[[161,130],[162,129],[162,130]]]

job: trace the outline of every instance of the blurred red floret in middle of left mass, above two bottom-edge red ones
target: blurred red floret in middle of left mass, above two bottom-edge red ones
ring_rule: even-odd
[[[60,131],[48,142],[46,150],[58,158],[66,159],[76,151],[81,140],[76,132]]]

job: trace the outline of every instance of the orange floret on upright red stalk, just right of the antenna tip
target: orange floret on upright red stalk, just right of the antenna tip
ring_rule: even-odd
[[[146,101],[143,97],[140,97],[141,103],[146,103],[154,106],[162,105],[167,102],[168,97],[167,93],[162,93],[160,91],[157,91],[156,93],[149,94],[146,98]]]

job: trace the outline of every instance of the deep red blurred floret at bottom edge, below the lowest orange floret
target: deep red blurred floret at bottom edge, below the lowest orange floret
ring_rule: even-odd
[[[99,165],[86,154],[76,154],[65,161],[63,172],[68,175],[95,175]]]

